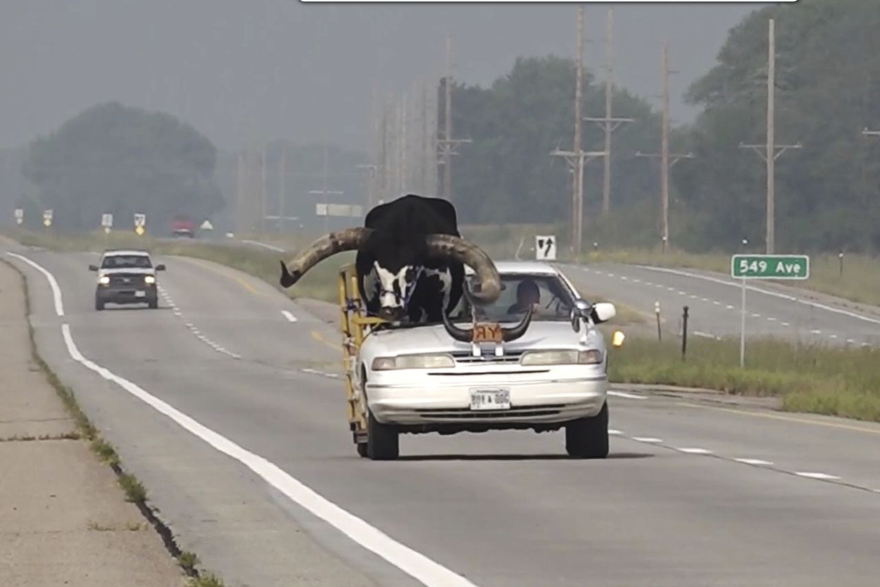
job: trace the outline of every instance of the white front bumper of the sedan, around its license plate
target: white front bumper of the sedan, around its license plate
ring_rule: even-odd
[[[480,424],[487,429],[510,424],[553,424],[597,415],[608,392],[605,374],[581,378],[456,378],[444,385],[368,382],[367,399],[384,424]],[[510,390],[510,409],[472,410],[475,389]]]

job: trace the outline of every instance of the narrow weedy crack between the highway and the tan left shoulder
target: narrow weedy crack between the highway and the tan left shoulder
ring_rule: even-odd
[[[31,315],[31,300],[28,293],[30,286],[27,281],[27,276],[9,261],[0,260],[0,262],[4,262],[20,276],[21,287],[25,294],[25,313],[26,317],[29,317]],[[177,543],[173,539],[171,529],[158,519],[154,511],[150,508],[150,505],[147,503],[148,496],[146,488],[143,487],[143,483],[141,483],[134,474],[128,473],[125,470],[113,445],[106,442],[106,440],[100,436],[98,429],[94,427],[88,416],[85,415],[82,408],[79,407],[73,390],[62,384],[61,379],[58,378],[55,371],[52,371],[48,366],[48,363],[46,363],[42,356],[40,356],[37,349],[36,339],[33,334],[33,326],[31,325],[30,319],[27,319],[26,321],[33,362],[40,367],[40,371],[42,371],[43,375],[46,377],[48,384],[52,385],[52,388],[55,389],[55,393],[57,393],[58,397],[62,400],[65,410],[67,410],[68,414],[70,414],[70,417],[75,422],[77,426],[77,438],[89,442],[90,448],[95,457],[114,471],[119,486],[126,495],[127,501],[136,505],[137,509],[140,510],[147,522],[158,532],[165,544],[165,548],[172,557],[178,561],[180,569],[182,569],[187,576],[187,587],[224,587],[224,583],[219,577],[205,569],[197,569],[194,564],[189,564],[191,561],[198,562],[198,557],[187,551],[181,551],[180,547],[177,546]]]

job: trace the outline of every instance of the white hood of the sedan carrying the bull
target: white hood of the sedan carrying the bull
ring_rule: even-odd
[[[458,327],[467,327],[465,323]],[[510,327],[511,325],[505,325]],[[510,352],[528,349],[569,348],[584,344],[583,327],[580,333],[571,328],[566,321],[534,321],[528,330],[516,341],[505,342],[504,349]],[[602,344],[602,335],[596,329],[586,334],[586,344]],[[470,350],[468,342],[459,342],[451,338],[442,324],[427,327],[399,328],[380,330],[371,333],[364,345],[376,353],[399,355],[403,353],[448,353],[455,350]]]

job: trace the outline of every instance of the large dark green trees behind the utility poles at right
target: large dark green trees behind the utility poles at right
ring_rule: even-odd
[[[671,150],[696,158],[671,170],[671,241],[691,250],[763,243],[764,161],[741,143],[766,137],[767,22],[776,23],[777,142],[803,143],[776,165],[776,242],[791,251],[880,249],[880,4],[813,0],[754,11],[735,26],[717,64],[686,100],[701,106],[675,128]],[[453,126],[463,145],[453,162],[453,198],[468,223],[553,223],[568,227],[570,175],[549,153],[572,148],[575,64],[519,58],[486,88],[453,84]],[[441,84],[442,86],[442,84]],[[442,90],[442,87],[441,87]],[[583,115],[602,116],[604,86],[585,76]],[[441,121],[443,128],[443,92]],[[600,217],[602,162],[587,165],[584,239],[608,245],[660,242],[659,114],[645,99],[614,91],[612,214]],[[584,123],[584,150],[603,150],[601,128]]]

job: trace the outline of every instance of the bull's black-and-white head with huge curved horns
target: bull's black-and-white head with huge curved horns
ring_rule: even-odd
[[[458,260],[473,268],[480,289],[467,293],[474,303],[491,304],[501,294],[501,277],[495,263],[479,246],[464,238],[448,234],[400,238],[400,235],[361,227],[331,232],[314,241],[287,265],[282,261],[281,285],[289,288],[321,260],[354,250],[363,250],[374,260],[381,308],[379,315],[384,319],[398,320],[402,317],[422,263],[429,257]]]

